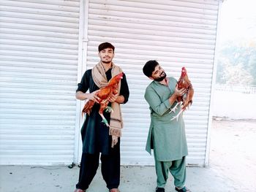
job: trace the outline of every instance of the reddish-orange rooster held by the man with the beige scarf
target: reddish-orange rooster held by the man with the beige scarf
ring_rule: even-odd
[[[110,99],[111,96],[116,95],[118,93],[118,83],[123,78],[123,72],[117,74],[115,77],[113,77],[109,82],[108,85],[104,88],[100,88],[99,92],[97,93],[97,96],[99,97],[99,115],[102,117],[103,122],[109,127],[108,121],[105,119],[103,115],[103,111],[106,109],[108,112],[111,110],[108,108],[108,99]],[[84,113],[87,113],[90,115],[91,108],[94,106],[95,101],[89,100],[86,102],[86,104],[83,107],[82,115]]]

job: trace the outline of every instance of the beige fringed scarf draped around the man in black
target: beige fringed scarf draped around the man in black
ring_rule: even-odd
[[[116,66],[112,63],[112,69],[111,69],[111,75],[114,77],[116,74],[121,73],[122,70],[119,66]],[[94,68],[91,70],[92,78],[95,82],[95,84],[99,88],[104,88],[106,85],[108,85],[108,80],[105,74],[105,69],[101,62],[94,66]],[[118,94],[120,93],[121,83],[118,84]],[[118,137],[121,137],[121,128],[123,128],[123,119],[121,116],[121,107],[120,104],[117,102],[113,102],[111,104],[112,112],[110,114],[110,129],[109,134],[112,136],[112,145],[116,145],[118,142]]]

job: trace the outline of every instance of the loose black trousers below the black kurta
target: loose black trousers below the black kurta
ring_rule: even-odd
[[[100,156],[102,177],[108,189],[118,188],[120,184],[120,142],[111,148],[109,155]],[[83,153],[80,163],[79,181],[76,188],[89,188],[99,166],[99,153]]]

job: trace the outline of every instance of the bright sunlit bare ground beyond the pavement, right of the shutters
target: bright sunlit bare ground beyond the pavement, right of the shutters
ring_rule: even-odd
[[[256,120],[214,120],[209,168],[239,191],[256,191]]]

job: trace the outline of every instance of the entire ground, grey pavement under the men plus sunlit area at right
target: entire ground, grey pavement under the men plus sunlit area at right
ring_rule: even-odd
[[[210,166],[187,168],[187,187],[193,192],[256,191],[256,120],[214,120]],[[78,167],[0,166],[1,192],[72,192]],[[154,192],[153,166],[122,166],[121,192]],[[165,191],[174,192],[170,176]],[[88,190],[107,192],[100,170]]]

